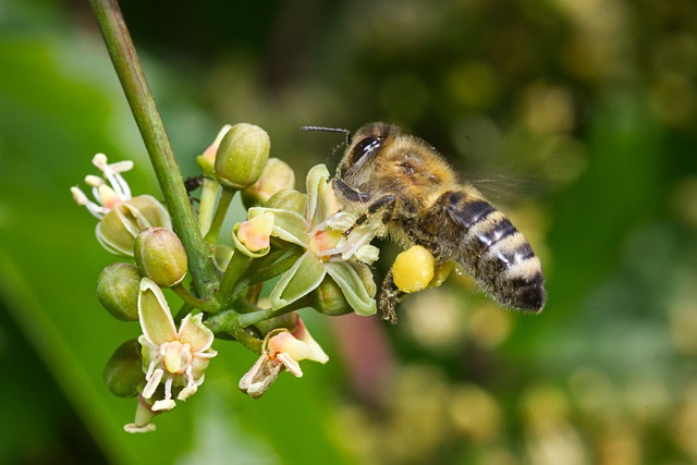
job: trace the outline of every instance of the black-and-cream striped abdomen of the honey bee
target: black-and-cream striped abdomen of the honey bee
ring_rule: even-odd
[[[541,310],[547,293],[540,260],[511,221],[488,201],[464,191],[448,192],[436,204],[460,228],[451,237],[460,243],[457,249],[448,253],[484,291],[506,307]]]

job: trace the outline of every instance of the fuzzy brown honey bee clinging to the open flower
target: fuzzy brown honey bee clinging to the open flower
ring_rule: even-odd
[[[545,277],[527,240],[425,140],[391,124],[369,123],[351,137],[332,181],[339,204],[372,222],[379,236],[408,248],[426,247],[437,264],[455,261],[503,307],[539,313]],[[347,231],[347,233],[350,233]],[[402,296],[392,271],[378,306],[396,321]]]

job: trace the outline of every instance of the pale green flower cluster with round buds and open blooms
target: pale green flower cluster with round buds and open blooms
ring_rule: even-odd
[[[283,370],[301,377],[301,360],[329,359],[297,310],[376,313],[369,267],[378,258],[370,245],[376,231],[340,211],[327,168],[309,171],[303,194],[293,188],[293,170],[269,158],[269,150],[266,132],[237,124],[223,127],[197,159],[203,183],[200,198],[191,204],[198,222],[193,235],[207,243],[206,260],[217,267],[208,287],[188,272],[189,244],[174,233],[163,205],[150,195],[131,195],[122,173],[132,162],[109,163],[99,154],[93,163],[101,175],[85,179],[94,200],[71,188],[77,204],[99,220],[99,243],[133,260],[109,265],[97,284],[111,315],[140,326],[140,335],[122,344],[105,370],[114,394],[138,399],[126,431],[154,430],[155,415],[196,393],[217,355],[218,336],[258,354],[240,381],[240,389],[256,399]],[[247,219],[224,233],[236,193]],[[272,279],[274,285],[265,291]],[[182,299],[179,311],[172,313],[164,292]]]

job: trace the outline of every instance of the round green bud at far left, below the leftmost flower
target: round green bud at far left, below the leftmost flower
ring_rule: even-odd
[[[97,278],[97,298],[115,318],[137,321],[140,278],[131,264],[111,264]]]

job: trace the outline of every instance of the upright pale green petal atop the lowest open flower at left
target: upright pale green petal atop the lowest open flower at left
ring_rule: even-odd
[[[140,281],[138,319],[145,338],[155,345],[176,339],[176,327],[164,294],[147,278]]]

